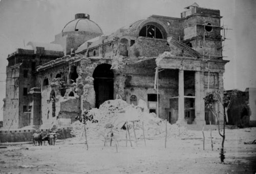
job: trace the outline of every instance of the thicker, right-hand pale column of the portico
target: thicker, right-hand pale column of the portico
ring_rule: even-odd
[[[204,73],[200,71],[195,72],[195,120],[196,125],[205,125],[204,113]]]

